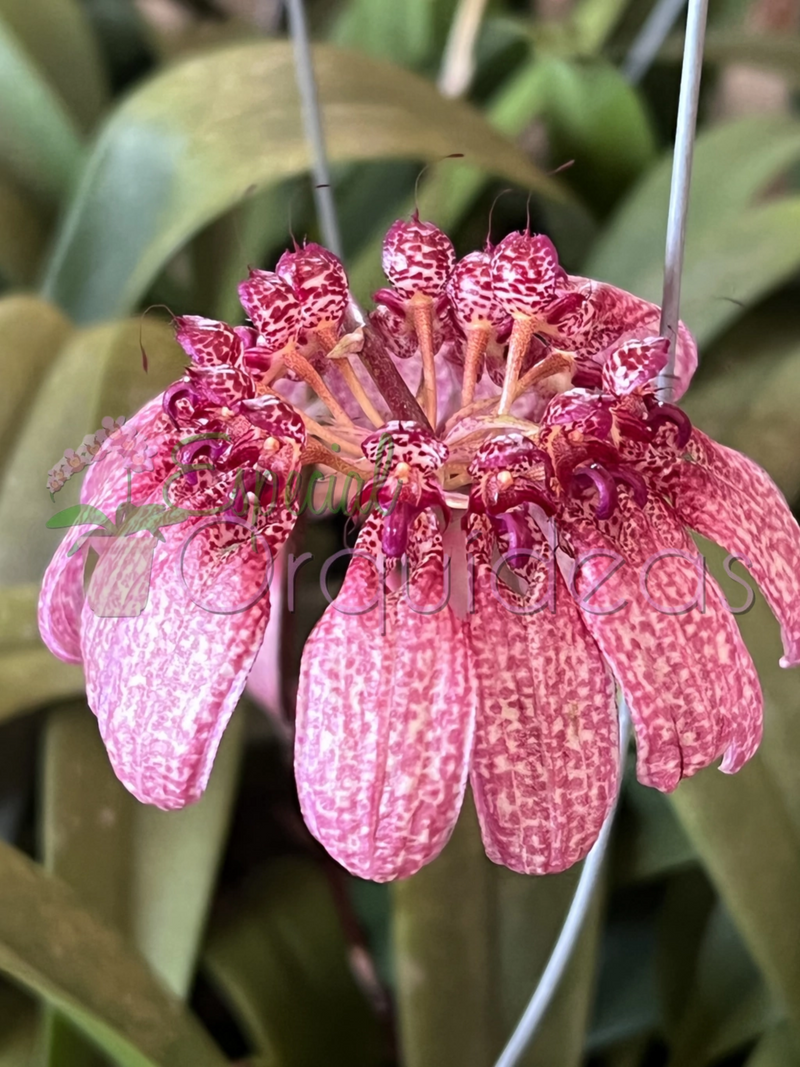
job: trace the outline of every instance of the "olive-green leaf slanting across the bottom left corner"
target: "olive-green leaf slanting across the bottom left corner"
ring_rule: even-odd
[[[224,1056],[122,938],[0,844],[0,970],[58,1007],[119,1067],[223,1067]]]

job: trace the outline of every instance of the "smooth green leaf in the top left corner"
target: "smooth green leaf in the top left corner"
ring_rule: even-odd
[[[81,161],[66,109],[0,18],[0,163],[23,188],[58,202]]]

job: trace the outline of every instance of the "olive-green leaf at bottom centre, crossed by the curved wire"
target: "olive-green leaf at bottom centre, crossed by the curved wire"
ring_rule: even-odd
[[[394,886],[403,1064],[494,1062],[544,970],[579,873],[530,878],[492,864],[468,800],[442,856]],[[581,1061],[601,909],[598,895],[521,1061],[525,1067],[577,1067]]]

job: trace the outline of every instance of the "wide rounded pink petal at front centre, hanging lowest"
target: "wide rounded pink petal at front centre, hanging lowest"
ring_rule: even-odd
[[[358,548],[374,558],[369,538],[365,528]],[[294,768],[311,833],[353,874],[387,881],[414,874],[450,837],[466,785],[475,686],[463,625],[448,606],[435,610],[441,543],[385,607],[380,589],[373,563],[353,559],[306,643]]]

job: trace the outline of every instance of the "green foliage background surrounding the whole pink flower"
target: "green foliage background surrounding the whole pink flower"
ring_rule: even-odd
[[[419,165],[463,153],[419,191],[460,252],[512,186],[496,234],[532,191],[570,270],[658,300],[679,42],[634,87],[620,62],[647,0],[574,0],[558,18],[496,0],[465,102],[435,85],[457,6],[309,3],[357,296],[380,284]],[[800,42],[754,25],[741,0],[711,0],[686,405],[796,501]],[[720,117],[733,64],[782,79],[785,106]],[[290,209],[318,236],[308,164],[275,3],[0,0],[0,1067],[491,1067],[569,907],[578,872],[493,866],[468,806],[416,877],[348,877],[302,826],[285,731],[246,700],[199,805],[139,806],[80,670],[38,639],[47,469],[179,375],[166,322],[142,308],[236,319],[235,283],[272,266]],[[307,534],[319,555],[336,545],[324,524]],[[300,599],[289,698],[322,606],[313,574]],[[763,601],[739,618],[763,748],[669,799],[628,776],[604,892],[527,1067],[800,1064],[800,674],[778,668]]]

